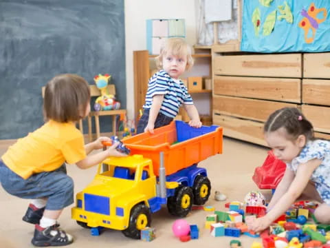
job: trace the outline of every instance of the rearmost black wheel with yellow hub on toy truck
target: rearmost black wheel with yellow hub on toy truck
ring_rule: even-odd
[[[204,205],[211,194],[211,183],[206,176],[198,175],[195,178],[194,185],[192,186],[194,193],[194,204]]]

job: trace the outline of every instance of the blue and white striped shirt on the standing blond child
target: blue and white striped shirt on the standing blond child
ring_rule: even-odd
[[[176,82],[164,70],[159,70],[149,79],[144,110],[150,110],[153,96],[160,94],[164,94],[164,101],[159,112],[170,118],[177,116],[182,103],[194,104],[184,83],[181,80]]]

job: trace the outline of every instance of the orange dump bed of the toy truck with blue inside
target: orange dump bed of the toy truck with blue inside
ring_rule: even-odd
[[[143,133],[122,142],[131,154],[151,158],[155,174],[159,174],[159,152],[164,152],[166,176],[222,153],[223,128],[212,125],[190,127],[182,121],[155,129],[155,134]]]

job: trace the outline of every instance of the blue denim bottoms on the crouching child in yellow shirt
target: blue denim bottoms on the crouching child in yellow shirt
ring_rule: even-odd
[[[0,160],[0,182],[13,196],[47,198],[48,210],[60,210],[74,203],[74,181],[67,176],[65,164],[52,172],[33,174],[24,180]]]

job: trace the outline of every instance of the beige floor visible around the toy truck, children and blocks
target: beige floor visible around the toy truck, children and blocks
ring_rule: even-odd
[[[6,150],[4,145],[0,146],[0,155]],[[208,176],[212,183],[212,195],[206,205],[215,207],[217,210],[225,210],[224,203],[232,200],[243,201],[245,194],[257,187],[252,181],[254,168],[263,164],[267,156],[267,148],[250,143],[224,138],[223,154],[212,156],[200,163],[201,167],[208,169]],[[75,182],[75,192],[83,189],[94,177],[96,167],[81,170],[76,165],[68,165],[68,174]],[[228,196],[225,202],[214,200],[214,191],[221,191]],[[267,198],[270,197],[269,191],[263,191]],[[33,236],[34,226],[24,223],[21,218],[28,207],[28,200],[22,200],[10,196],[0,187],[0,247],[3,248],[22,248],[32,247],[30,241]],[[69,234],[74,236],[74,243],[69,247],[229,247],[232,237],[213,238],[207,229],[204,229],[204,221],[208,211],[195,210],[186,217],[190,225],[198,225],[200,238],[190,240],[187,244],[182,244],[171,231],[175,220],[170,216],[164,207],[161,211],[152,215],[152,227],[156,229],[156,239],[152,242],[131,240],[125,238],[120,231],[105,230],[100,236],[91,236],[89,229],[83,229],[71,219],[71,206],[64,209],[59,218],[61,227]],[[248,248],[254,241],[261,242],[259,238],[241,236],[243,247]]]

